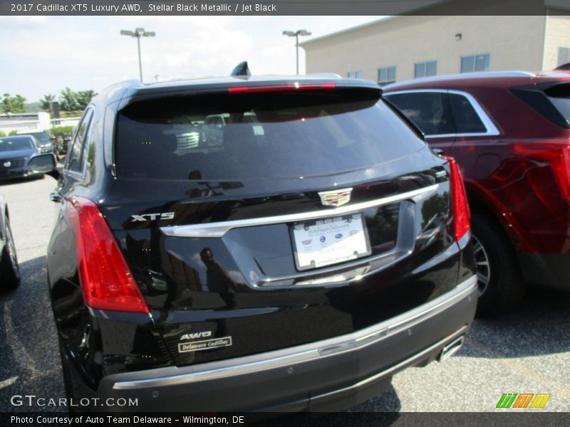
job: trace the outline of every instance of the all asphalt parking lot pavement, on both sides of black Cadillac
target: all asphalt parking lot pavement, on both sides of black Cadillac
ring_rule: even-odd
[[[10,403],[16,394],[65,396],[46,284],[58,206],[48,194],[55,186],[47,176],[0,184],[23,275],[16,291],[0,293],[0,411],[65,410]],[[403,371],[388,391],[350,411],[515,411],[495,408],[504,393],[551,394],[544,411],[570,411],[569,330],[570,295],[534,290],[517,310],[477,320],[454,357]],[[331,425],[336,416],[318,424]]]

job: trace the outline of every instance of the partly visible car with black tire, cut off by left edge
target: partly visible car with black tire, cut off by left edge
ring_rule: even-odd
[[[10,228],[8,205],[0,194],[0,292],[12,290],[19,283],[20,268]]]

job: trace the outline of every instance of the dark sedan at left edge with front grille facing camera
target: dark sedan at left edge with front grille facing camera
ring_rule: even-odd
[[[30,159],[42,153],[38,139],[29,135],[0,137],[0,181],[42,176],[31,172]],[[53,156],[53,154],[48,154]]]

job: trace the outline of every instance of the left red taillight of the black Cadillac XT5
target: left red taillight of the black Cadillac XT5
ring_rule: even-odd
[[[83,197],[73,197],[67,206],[67,216],[76,237],[79,279],[86,304],[101,310],[148,313],[98,206]]]

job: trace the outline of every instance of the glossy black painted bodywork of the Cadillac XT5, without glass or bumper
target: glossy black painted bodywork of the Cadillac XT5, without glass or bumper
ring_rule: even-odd
[[[63,200],[48,246],[49,283],[61,342],[88,389],[97,389],[110,374],[199,364],[360,330],[444,294],[455,288],[458,278],[472,273],[451,235],[447,162],[427,147],[368,169],[310,179],[209,182],[115,176],[113,125],[118,108],[169,91],[187,95],[220,88],[227,88],[227,80],[199,87],[110,88],[92,105],[84,171],[64,169],[58,179]],[[415,137],[410,131],[410,138]],[[223,238],[168,237],[160,231],[163,226],[326,211],[318,191],[351,186],[350,203],[356,204],[435,184],[437,191],[423,200],[363,211],[372,254],[303,273],[313,279],[346,274],[347,280],[324,285],[296,286],[301,278],[289,239],[292,224],[237,228]],[[86,307],[73,230],[66,218],[70,196],[100,206],[150,315]],[[174,212],[174,218],[132,218],[162,212]],[[408,223],[402,226],[403,221]],[[395,238],[407,242],[406,251],[397,251]],[[284,279],[290,276],[294,279]],[[281,286],[271,289],[263,277],[281,280]],[[179,352],[182,335],[197,332],[232,337],[233,344]]]

